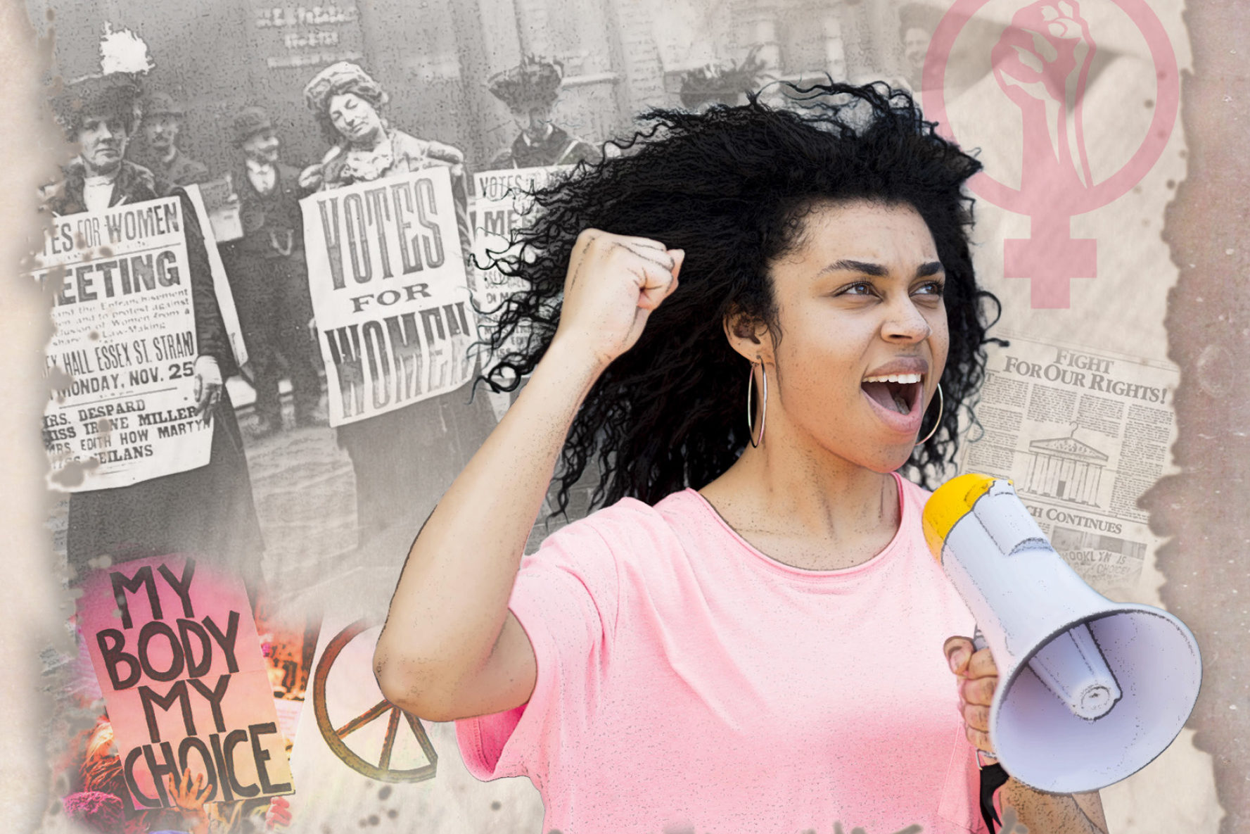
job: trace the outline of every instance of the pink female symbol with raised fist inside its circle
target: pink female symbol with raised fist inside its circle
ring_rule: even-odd
[[[955,39],[989,0],[955,0],[934,31],[925,55],[925,115],[954,138],[944,80]],[[1098,275],[1098,241],[1072,239],[1071,219],[1108,205],[1136,185],[1159,161],[1176,121],[1180,83],[1168,33],[1145,0],[1112,0],[1136,24],[1155,64],[1158,93],[1150,129],[1132,158],[1094,183],[1085,153],[1084,99],[1096,50],[1075,0],[1041,0],[1021,8],[990,51],[994,79],[1020,108],[1024,158],[1020,188],[980,173],[972,193],[1028,215],[1029,238],[1002,243],[1005,278],[1030,279],[1031,306],[1069,308],[1074,278]]]

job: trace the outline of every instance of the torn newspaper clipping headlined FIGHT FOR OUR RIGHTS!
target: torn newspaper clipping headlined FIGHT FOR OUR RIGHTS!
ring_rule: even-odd
[[[1158,539],[1138,499],[1176,439],[1168,364],[1016,335],[990,353],[960,471],[1010,478],[1055,549],[1095,590],[1128,599]]]

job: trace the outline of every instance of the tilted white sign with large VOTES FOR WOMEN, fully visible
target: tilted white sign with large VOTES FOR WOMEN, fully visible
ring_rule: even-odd
[[[300,203],[330,425],[454,390],[476,320],[444,166]]]

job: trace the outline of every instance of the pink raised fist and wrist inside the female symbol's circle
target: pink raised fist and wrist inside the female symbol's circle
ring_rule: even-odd
[[[1058,165],[1051,173],[1084,188],[1092,183],[1081,100],[1094,50],[1075,0],[1041,0],[1011,18],[990,53],[995,80],[1024,114],[1025,168]],[[1050,159],[1040,158],[1044,138]]]

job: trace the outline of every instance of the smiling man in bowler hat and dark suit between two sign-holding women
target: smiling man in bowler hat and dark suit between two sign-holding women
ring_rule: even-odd
[[[300,169],[279,160],[281,143],[262,109],[244,108],[235,115],[234,144],[241,159],[231,183],[239,196],[244,234],[221,250],[251,358],[256,434],[264,436],[282,429],[278,394],[281,360],[291,380],[295,425],[322,421],[318,411],[321,378],[309,333],[312,301],[299,204],[308,190],[299,184]]]

